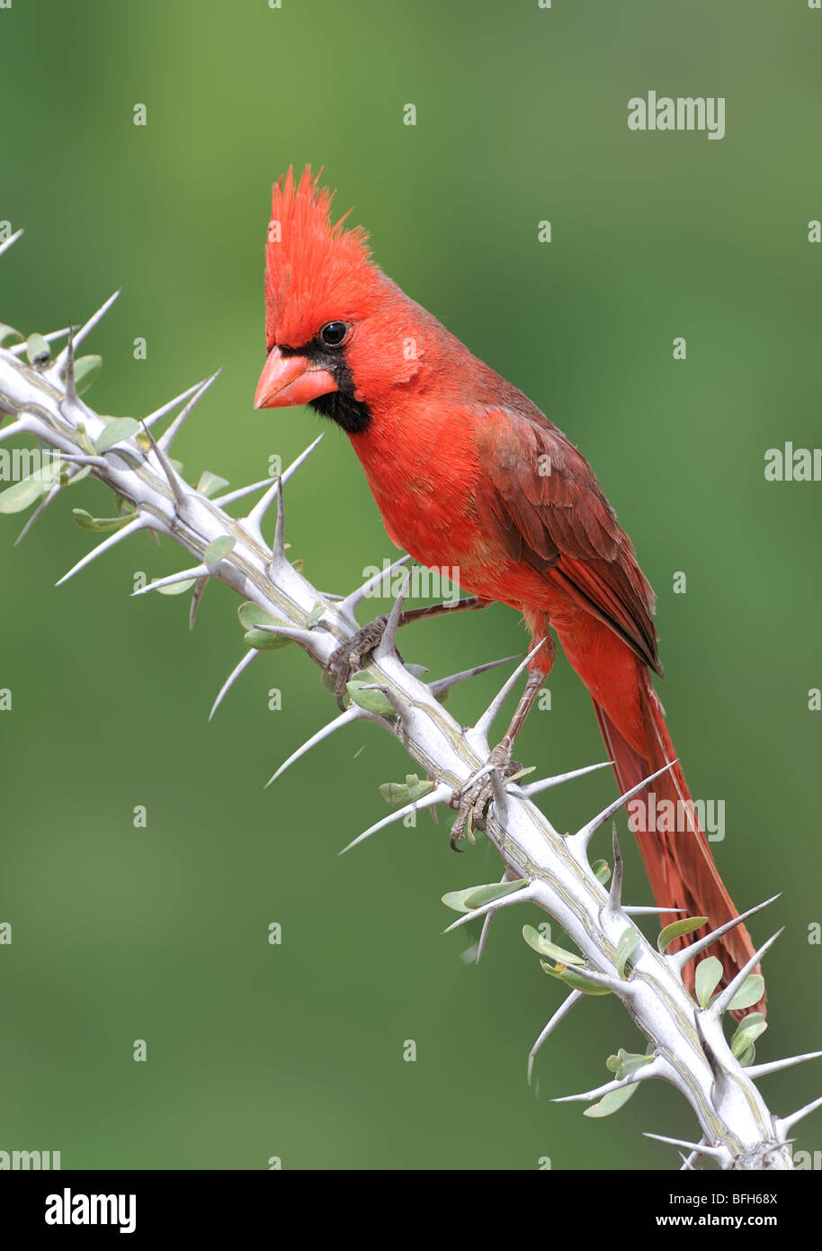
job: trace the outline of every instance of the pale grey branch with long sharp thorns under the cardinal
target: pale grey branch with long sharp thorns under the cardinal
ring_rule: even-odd
[[[0,251],[11,241],[0,245]],[[86,467],[132,509],[122,527],[79,560],[61,582],[137,530],[165,534],[191,554],[192,563],[179,574],[146,587],[145,592],[194,579],[194,614],[204,585],[215,578],[227,583],[254,605],[256,615],[246,639],[260,646],[249,646],[219,692],[215,708],[232,682],[265,649],[269,636],[292,641],[317,664],[327,666],[336,648],[356,634],[355,608],[366,597],[370,584],[341,599],[327,595],[317,592],[286,557],[282,485],[319,439],[282,473],[281,479],[257,482],[209,499],[202,489],[184,480],[169,452],[174,437],[216,375],[189,388],[141,424],[120,419],[121,424],[114,425],[114,419],[99,415],[77,395],[75,349],[110,303],[106,301],[74,334],[74,343],[70,330],[47,335],[50,342],[66,333],[69,335],[66,345],[54,359],[41,359],[42,352],[31,353],[31,340],[29,357],[24,355],[26,344],[16,344],[11,349],[0,347],[0,413],[12,418],[10,425],[0,429],[0,439],[15,433],[34,435],[57,449],[64,462],[62,477],[44,487],[35,515],[66,489],[66,479],[79,475]],[[152,427],[175,409],[179,409],[177,415],[155,439]],[[226,512],[229,504],[257,490],[262,494],[245,515],[232,518]],[[272,547],[269,547],[262,524],[275,503],[279,504],[276,530]],[[30,523],[26,530],[29,527]],[[395,604],[382,642],[365,667],[361,689],[354,692],[355,698],[347,709],[294,752],[275,774],[275,778],[279,777],[312,746],[355,722],[374,722],[395,734],[425,776],[435,779],[433,788],[377,821],[355,843],[391,822],[401,821],[409,812],[453,799],[455,793],[486,761],[493,719],[523,668],[521,664],[516,669],[473,727],[466,729],[458,726],[440,703],[440,697],[450,686],[471,678],[488,666],[430,683],[415,677],[404,666],[395,647],[401,603],[402,597]],[[622,868],[616,833],[610,891],[588,862],[593,834],[613,817],[627,796],[621,796],[570,836],[560,834],[531,802],[548,787],[587,772],[590,768],[540,782],[496,784],[485,832],[502,857],[502,883],[480,894],[476,889],[458,892],[461,899],[452,906],[462,914],[450,928],[483,917],[481,950],[493,913],[528,901],[558,922],[581,952],[581,957],[571,956],[571,961],[578,960],[578,963],[563,963],[550,945],[542,951],[555,961],[543,967],[565,981],[570,993],[535,1043],[528,1058],[528,1076],[537,1050],[583,995],[611,992],[622,1001],[646,1035],[651,1045],[647,1061],[646,1057],[637,1057],[633,1065],[615,1070],[617,1076],[613,1081],[570,1098],[598,1100],[630,1085],[662,1078],[687,1098],[700,1126],[695,1142],[661,1138],[690,1152],[687,1158],[682,1157],[683,1167],[691,1168],[697,1158],[710,1157],[722,1168],[792,1168],[788,1132],[801,1117],[822,1105],[822,1100],[777,1118],[768,1111],[755,1082],[787,1065],[822,1053],[742,1067],[725,1037],[722,1017],[745,982],[746,971],[721,996],[711,1001],[708,995],[706,1006],[697,1005],[683,986],[681,971],[685,962],[716,936],[711,934],[675,955],[660,953],[635,929],[631,916],[662,909],[632,909],[622,902]],[[760,904],[745,916],[750,917],[765,906]],[[540,950],[538,936],[533,931],[531,933],[532,946]],[[772,941],[768,940],[757,952],[752,967]]]

